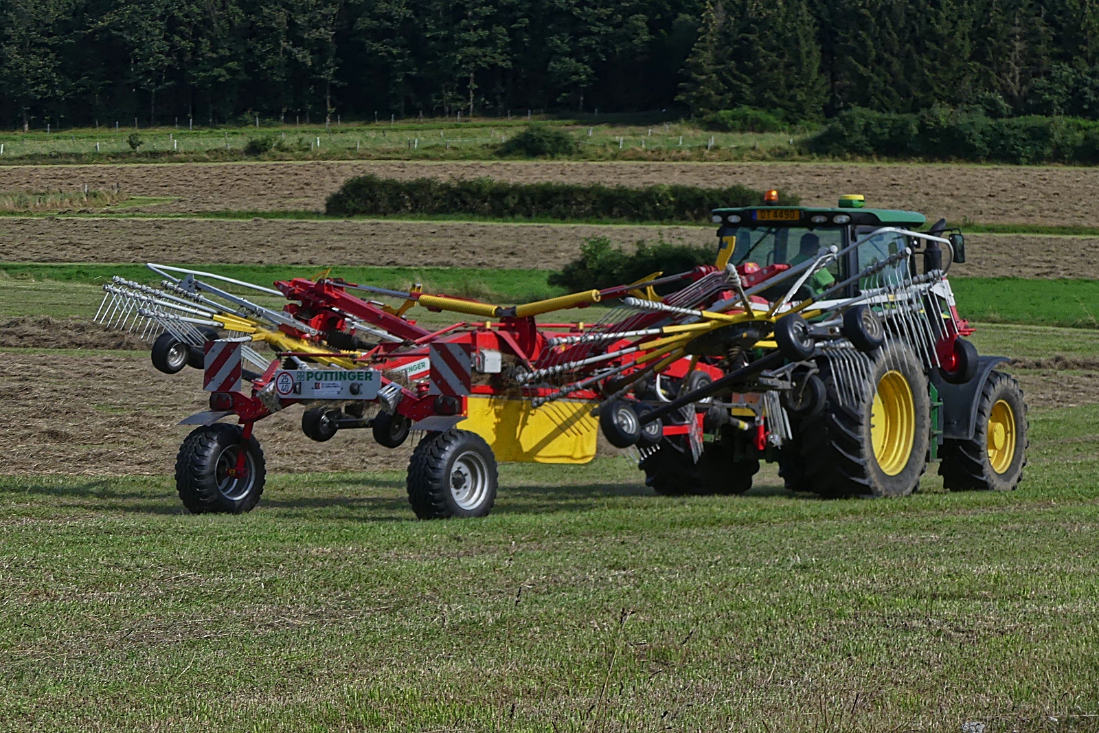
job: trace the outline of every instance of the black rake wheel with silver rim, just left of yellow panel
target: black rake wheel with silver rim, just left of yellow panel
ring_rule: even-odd
[[[496,501],[496,456],[468,430],[428,433],[409,459],[407,487],[420,519],[486,517]]]

